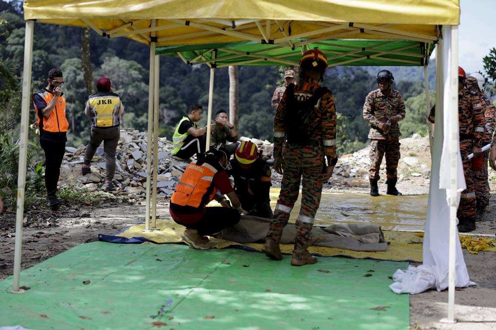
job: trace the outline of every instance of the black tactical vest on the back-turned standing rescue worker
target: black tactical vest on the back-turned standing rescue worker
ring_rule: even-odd
[[[291,144],[306,146],[310,141],[313,130],[310,123],[315,120],[315,106],[325,93],[326,87],[319,87],[313,95],[306,100],[297,100],[295,85],[286,87],[286,139]]]

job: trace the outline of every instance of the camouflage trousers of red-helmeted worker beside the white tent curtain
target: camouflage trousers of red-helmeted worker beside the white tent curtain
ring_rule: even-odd
[[[460,204],[456,212],[458,219],[474,219],[476,215],[477,201],[474,189],[474,171],[472,170],[472,160],[467,159],[467,155],[472,153],[472,146],[472,140],[460,140],[463,174],[465,175],[465,185],[467,188],[462,191],[460,196]]]

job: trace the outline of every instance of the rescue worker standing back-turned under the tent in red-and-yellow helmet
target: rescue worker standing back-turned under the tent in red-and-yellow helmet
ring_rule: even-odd
[[[298,199],[303,177],[301,209],[295,223],[293,266],[317,262],[307,248],[311,244],[311,229],[320,204],[322,184],[331,177],[338,160],[334,98],[329,90],[318,85],[327,68],[327,58],[314,49],[303,54],[300,67],[300,81],[286,88],[274,118],[274,169],[283,177],[262,247],[267,257],[282,259],[279,242]],[[305,125],[295,125],[297,115],[305,118]]]

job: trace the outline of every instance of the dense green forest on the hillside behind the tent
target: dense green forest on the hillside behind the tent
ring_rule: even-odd
[[[24,52],[24,19],[20,1],[0,1],[1,66],[20,81]],[[86,144],[89,135],[84,104],[88,93],[81,63],[81,28],[35,23],[33,46],[33,92],[46,86],[52,67],[64,74],[64,93],[71,124],[68,145]],[[126,38],[108,39],[90,33],[90,56],[93,80],[111,78],[125,106],[123,127],[147,129],[149,47]],[[244,136],[272,139],[274,111],[270,100],[275,87],[282,83],[288,67],[239,67],[239,132]],[[367,93],[376,88],[378,67],[332,67],[323,84],[335,98],[339,112],[340,153],[364,146],[369,131],[362,117]],[[425,100],[422,67],[389,67],[395,86],[407,102],[407,119],[401,122],[404,136],[425,134]],[[206,65],[192,67],[180,58],[160,59],[160,135],[171,138],[174,126],[187,107],[198,103],[207,108],[210,70]],[[434,65],[430,65],[431,88],[434,88]],[[229,109],[227,68],[215,70],[213,110]],[[412,98],[411,100],[409,100]],[[434,101],[434,99],[432,99]],[[424,102],[424,103],[423,103]],[[206,116],[202,119],[206,120]],[[34,111],[33,111],[34,121]],[[204,122],[202,123],[204,124]]]

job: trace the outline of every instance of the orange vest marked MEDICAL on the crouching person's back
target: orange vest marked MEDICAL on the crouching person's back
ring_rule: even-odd
[[[217,188],[213,185],[216,173],[217,169],[208,163],[202,165],[196,165],[196,161],[189,163],[172,194],[171,203],[197,208],[201,212],[217,192]]]

